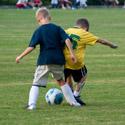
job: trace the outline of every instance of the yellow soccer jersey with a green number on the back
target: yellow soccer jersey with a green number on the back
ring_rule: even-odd
[[[70,58],[68,48],[64,48],[65,55],[65,68],[77,70],[85,65],[84,56],[86,45],[94,45],[99,39],[90,32],[83,30],[82,28],[73,27],[66,30],[66,33],[72,38],[73,49],[77,58],[77,63],[73,64]]]

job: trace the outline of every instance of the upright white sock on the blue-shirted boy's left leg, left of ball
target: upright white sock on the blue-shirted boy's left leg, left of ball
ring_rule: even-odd
[[[29,92],[29,102],[28,105],[36,106],[36,101],[39,95],[39,87],[32,86]]]

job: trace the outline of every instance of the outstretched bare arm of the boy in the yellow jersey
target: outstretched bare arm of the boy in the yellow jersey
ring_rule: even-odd
[[[116,44],[113,44],[113,43],[111,43],[111,42],[108,41],[108,40],[98,39],[96,42],[97,42],[97,43],[101,43],[101,44],[106,45],[106,46],[109,46],[109,47],[111,47],[111,48],[113,48],[113,49],[118,48],[118,46],[117,46]]]

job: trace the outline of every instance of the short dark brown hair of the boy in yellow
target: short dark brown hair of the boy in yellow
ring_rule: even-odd
[[[76,21],[76,25],[80,26],[80,27],[84,27],[87,29],[87,31],[89,30],[89,22],[87,19],[85,18],[80,18]]]

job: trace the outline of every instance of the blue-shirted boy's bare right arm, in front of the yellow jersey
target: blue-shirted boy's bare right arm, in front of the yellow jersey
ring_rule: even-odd
[[[76,56],[75,56],[74,51],[73,51],[73,49],[72,49],[72,43],[71,43],[70,39],[66,39],[66,40],[65,40],[65,43],[66,43],[66,46],[67,46],[68,49],[69,49],[69,52],[70,52],[71,59],[72,59],[73,63],[76,63],[76,62],[77,62],[77,59],[76,59]]]

